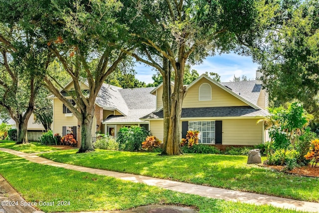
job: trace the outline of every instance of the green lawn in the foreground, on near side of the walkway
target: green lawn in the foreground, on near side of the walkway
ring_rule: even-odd
[[[271,206],[208,199],[144,184],[31,163],[0,152],[0,174],[27,202],[54,202],[37,206],[44,212],[127,210],[149,204],[192,206],[200,213],[295,213]],[[66,206],[57,206],[66,201]]]

